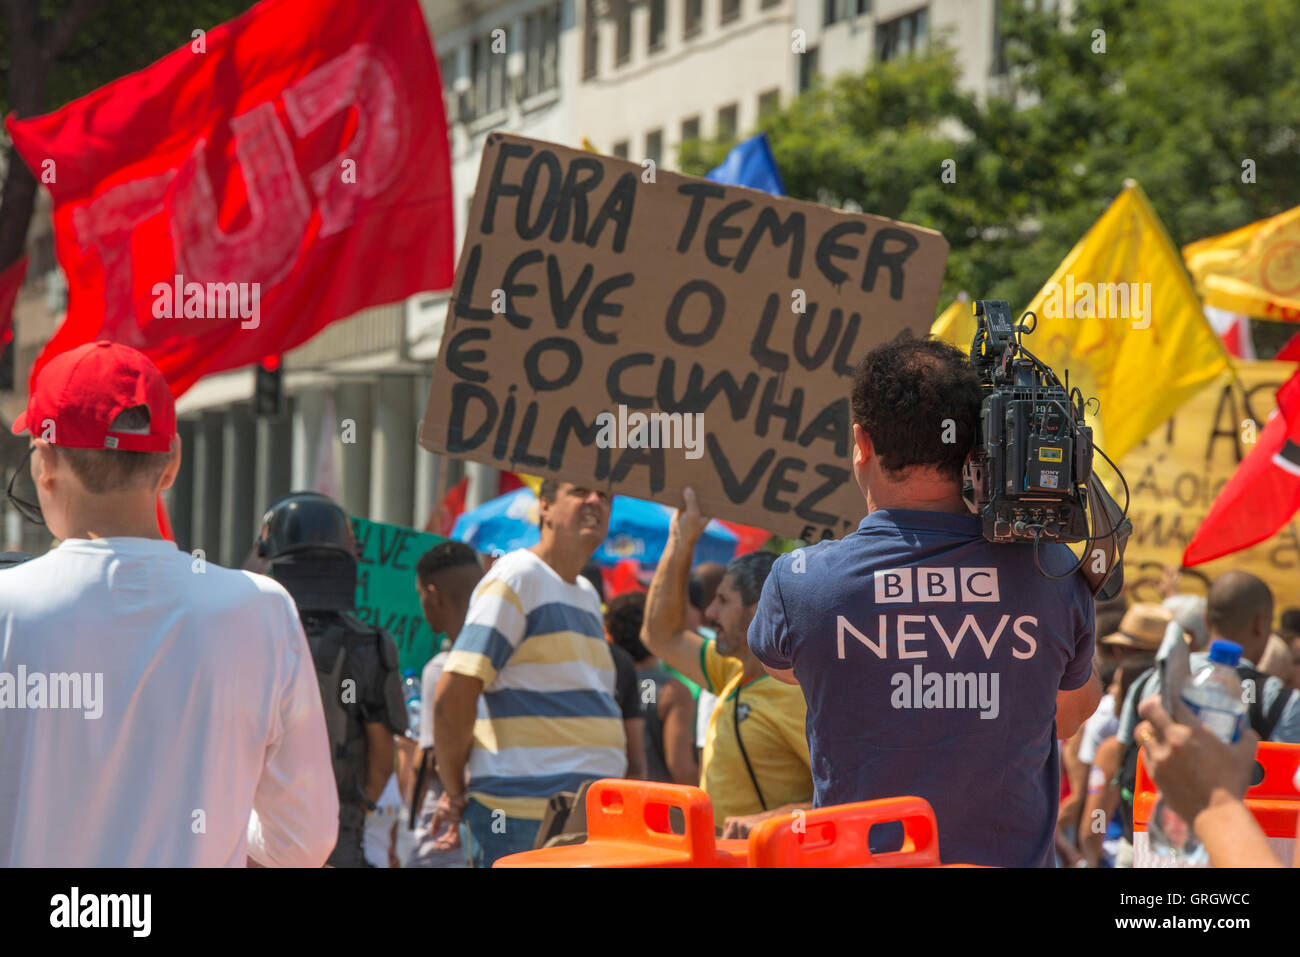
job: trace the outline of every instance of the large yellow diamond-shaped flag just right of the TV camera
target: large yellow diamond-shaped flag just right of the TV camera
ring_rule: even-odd
[[[1026,348],[1101,403],[1089,424],[1114,462],[1228,368],[1178,250],[1132,181],[1028,308],[1037,328]]]

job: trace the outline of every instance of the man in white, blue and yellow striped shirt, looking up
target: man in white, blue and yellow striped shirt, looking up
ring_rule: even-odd
[[[476,867],[532,849],[552,794],[628,766],[601,599],[580,575],[608,532],[610,495],[547,480],[538,514],[541,541],[474,589],[434,694],[434,846],[464,839]]]

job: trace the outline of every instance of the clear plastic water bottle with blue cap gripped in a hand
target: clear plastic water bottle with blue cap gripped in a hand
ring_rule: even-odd
[[[1242,683],[1236,666],[1242,661],[1242,646],[1235,641],[1210,642],[1210,667],[1202,668],[1183,687],[1183,703],[1225,744],[1242,736],[1245,724],[1245,702],[1242,701]],[[1156,802],[1147,826],[1152,849],[1179,863],[1209,863],[1209,856],[1188,822],[1174,813],[1165,798]]]

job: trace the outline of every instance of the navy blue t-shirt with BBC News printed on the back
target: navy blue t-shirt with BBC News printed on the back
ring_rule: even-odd
[[[1063,545],[1039,549],[1062,575]],[[1092,675],[1082,575],[974,515],[879,510],[781,555],[749,646],[807,698],[814,805],[916,794],[952,863],[1054,865],[1056,694]]]

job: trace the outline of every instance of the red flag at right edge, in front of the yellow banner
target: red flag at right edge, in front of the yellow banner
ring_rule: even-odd
[[[1278,389],[1278,411],[1242,459],[1183,553],[1183,566],[1240,551],[1300,510],[1300,371]]]

